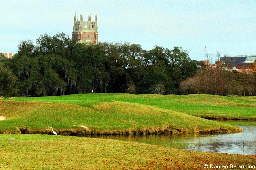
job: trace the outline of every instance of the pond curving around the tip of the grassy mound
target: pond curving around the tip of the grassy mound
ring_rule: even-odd
[[[147,143],[186,150],[256,155],[256,122],[233,121],[225,123],[239,126],[243,132],[233,134],[169,134],[169,135],[121,135],[95,136],[131,142]]]

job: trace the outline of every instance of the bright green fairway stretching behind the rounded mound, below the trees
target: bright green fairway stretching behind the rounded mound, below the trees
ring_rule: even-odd
[[[85,100],[84,100],[85,99]],[[78,94],[54,97],[19,98],[90,106],[99,101],[122,101],[155,106],[194,116],[256,120],[256,97],[225,97],[216,95],[132,95],[125,93]]]

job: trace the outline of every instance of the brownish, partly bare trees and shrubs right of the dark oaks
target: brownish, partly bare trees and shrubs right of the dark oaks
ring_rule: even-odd
[[[180,83],[182,94],[213,94],[223,96],[255,96],[256,72],[227,71],[221,66],[199,69],[193,77]]]

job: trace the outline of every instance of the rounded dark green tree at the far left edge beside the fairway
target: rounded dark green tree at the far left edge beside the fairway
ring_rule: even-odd
[[[0,63],[0,96],[4,98],[14,96],[17,92],[16,81],[17,77],[9,67],[6,67],[4,63]]]

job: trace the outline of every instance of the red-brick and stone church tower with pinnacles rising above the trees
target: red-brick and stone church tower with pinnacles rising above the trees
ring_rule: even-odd
[[[94,18],[90,15],[88,16],[88,21],[83,21],[82,11],[80,14],[80,19],[76,21],[76,12],[74,15],[74,26],[72,32],[72,39],[78,39],[78,42],[88,43],[88,44],[97,44],[98,43],[98,26],[97,26],[97,12]]]

